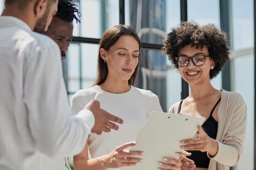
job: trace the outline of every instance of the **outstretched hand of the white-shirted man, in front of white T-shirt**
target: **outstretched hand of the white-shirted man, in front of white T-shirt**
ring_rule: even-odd
[[[95,123],[92,128],[92,133],[100,135],[103,132],[110,132],[110,129],[118,130],[119,127],[113,122],[123,124],[124,121],[117,116],[114,116],[100,108],[100,103],[97,100],[90,101],[84,109],[92,111],[95,118]],[[111,122],[112,121],[112,122]]]

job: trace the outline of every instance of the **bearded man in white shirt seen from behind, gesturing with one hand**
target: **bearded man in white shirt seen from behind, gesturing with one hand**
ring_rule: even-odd
[[[120,118],[91,101],[70,117],[60,50],[45,35],[57,0],[6,0],[0,17],[0,169],[50,170]],[[110,121],[111,120],[111,121]],[[45,166],[47,165],[47,167]]]

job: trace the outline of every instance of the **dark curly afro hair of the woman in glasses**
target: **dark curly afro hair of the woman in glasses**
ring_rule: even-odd
[[[162,53],[168,55],[168,59],[177,69],[179,67],[175,57],[178,57],[181,48],[189,44],[192,44],[192,47],[195,46],[197,49],[202,49],[206,46],[209,55],[215,62],[215,67],[210,70],[210,79],[217,76],[227,63],[227,60],[229,60],[227,35],[213,24],[200,27],[193,22],[181,22],[180,27],[171,29],[163,43]]]

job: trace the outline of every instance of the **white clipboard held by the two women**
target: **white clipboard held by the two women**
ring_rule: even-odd
[[[164,157],[179,159],[177,152],[183,139],[193,138],[202,125],[204,117],[193,117],[175,113],[153,111],[137,135],[137,144],[130,150],[143,151],[145,155],[137,156],[143,159],[136,166],[120,167],[125,170],[158,170],[159,161],[164,162]]]

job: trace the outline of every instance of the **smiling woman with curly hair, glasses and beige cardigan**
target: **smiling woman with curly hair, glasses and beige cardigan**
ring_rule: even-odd
[[[162,52],[191,89],[169,112],[206,118],[193,139],[181,141],[181,148],[192,153],[182,160],[182,169],[191,168],[193,160],[194,170],[229,170],[243,153],[247,107],[237,92],[211,85],[229,59],[226,33],[213,24],[181,22],[163,42]]]

